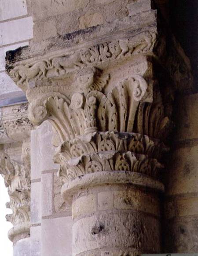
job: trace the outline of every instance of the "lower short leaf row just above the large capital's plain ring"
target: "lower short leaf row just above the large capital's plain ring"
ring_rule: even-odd
[[[132,171],[156,178],[158,170],[163,167],[156,159],[130,151],[125,153],[106,151],[67,160],[62,148],[55,162],[61,165],[58,175],[63,183],[97,171]]]

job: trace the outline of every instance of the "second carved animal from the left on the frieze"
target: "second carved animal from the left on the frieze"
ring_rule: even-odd
[[[58,74],[60,74],[61,71],[68,73],[80,69],[83,67],[80,53],[74,52],[72,55],[54,58],[52,59],[52,67],[55,68]]]

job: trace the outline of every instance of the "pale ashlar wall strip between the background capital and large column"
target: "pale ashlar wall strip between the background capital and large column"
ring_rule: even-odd
[[[31,256],[72,255],[71,209],[60,195],[52,139],[49,122],[31,132]]]

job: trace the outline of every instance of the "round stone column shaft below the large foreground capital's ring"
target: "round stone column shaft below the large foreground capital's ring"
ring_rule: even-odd
[[[113,199],[113,205],[108,197]],[[102,198],[103,202],[107,198],[110,207],[103,203],[105,207],[101,208]],[[160,252],[159,202],[130,185],[82,190],[81,197],[73,201],[72,217],[73,255],[92,250],[95,255],[109,247],[126,247],[143,253]]]

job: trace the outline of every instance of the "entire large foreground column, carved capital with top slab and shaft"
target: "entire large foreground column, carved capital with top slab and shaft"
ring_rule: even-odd
[[[191,84],[188,60],[166,32],[149,9],[43,42],[45,50],[7,53],[29,120],[48,119],[59,138],[54,161],[72,204],[75,256],[160,251],[163,141],[174,93]]]

